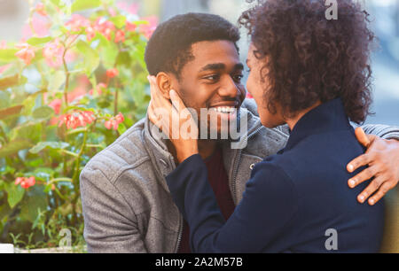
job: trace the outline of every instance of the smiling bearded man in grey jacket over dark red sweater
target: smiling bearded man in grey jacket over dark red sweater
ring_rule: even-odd
[[[283,149],[288,139],[286,127],[262,127],[254,103],[244,102],[244,66],[239,60],[238,41],[238,29],[225,19],[189,13],[161,24],[145,52],[149,74],[156,76],[155,83],[164,97],[175,89],[186,107],[199,115],[201,109],[210,112],[200,122],[212,126],[213,113],[227,120],[247,116],[246,136],[240,138],[246,142],[244,149],[232,149],[230,139],[199,141],[200,156],[225,219],[242,199],[254,164]],[[218,134],[223,133],[221,123],[213,126]],[[398,128],[369,126],[364,130],[385,138],[374,138],[369,154],[379,149],[383,159],[399,157],[399,143],[389,141],[399,139]],[[381,170],[383,159],[364,159],[378,170],[357,176],[357,182],[377,172],[390,174],[393,177],[385,183],[392,188],[398,179],[396,167]],[[84,237],[89,252],[190,252],[188,225],[165,181],[176,168],[175,161],[173,144],[153,133],[148,117],[90,160],[81,174]]]

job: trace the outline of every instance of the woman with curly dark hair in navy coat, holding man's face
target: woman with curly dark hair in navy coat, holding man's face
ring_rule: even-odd
[[[252,41],[247,89],[262,125],[288,124],[291,135],[285,149],[254,166],[228,221],[196,140],[174,142],[180,165],[166,179],[189,223],[192,252],[379,251],[384,204],[357,203],[344,170],[364,152],[349,120],[369,114],[374,36],[360,4],[338,2],[337,20],[325,18],[324,0],[259,1],[241,16]],[[176,94],[171,99],[183,106]]]

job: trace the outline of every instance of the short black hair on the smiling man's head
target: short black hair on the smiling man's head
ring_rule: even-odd
[[[157,27],[145,49],[148,72],[172,73],[179,78],[184,65],[193,60],[192,44],[219,40],[231,41],[239,50],[238,27],[207,13],[187,13],[168,19]]]

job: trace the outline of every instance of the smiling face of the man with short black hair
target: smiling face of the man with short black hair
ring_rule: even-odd
[[[207,127],[220,134],[222,122],[236,121],[246,97],[241,84],[244,66],[234,43],[228,41],[194,43],[192,55],[194,60],[182,69],[176,90],[184,105],[194,109],[199,118],[200,110],[207,109]],[[216,128],[210,122],[215,117]]]

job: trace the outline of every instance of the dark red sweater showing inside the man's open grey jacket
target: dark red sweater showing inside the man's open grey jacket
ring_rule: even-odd
[[[222,149],[218,148],[215,153],[205,161],[207,166],[207,178],[215,192],[216,200],[224,219],[227,221],[234,212],[234,201],[229,188],[229,177],[223,166]],[[191,253],[190,250],[190,228],[184,221],[182,240],[178,253]]]

